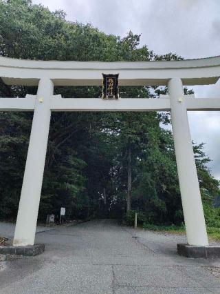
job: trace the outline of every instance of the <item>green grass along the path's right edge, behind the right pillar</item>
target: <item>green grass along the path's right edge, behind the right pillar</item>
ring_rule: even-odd
[[[170,233],[170,234],[184,234],[186,233],[185,226],[155,226],[154,224],[146,224],[143,225],[144,230]],[[220,228],[216,228],[213,226],[207,227],[208,238],[210,240],[219,241],[220,242]]]

